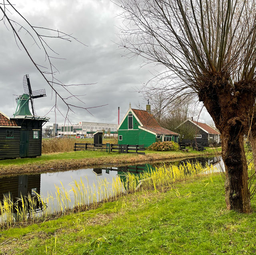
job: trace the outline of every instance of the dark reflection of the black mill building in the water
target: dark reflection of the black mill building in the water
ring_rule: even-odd
[[[13,213],[17,212],[17,208],[22,208],[23,198],[25,203],[28,198],[31,198],[34,203],[36,212],[42,211],[42,204],[38,200],[37,194],[40,194],[41,175],[20,175],[15,177],[0,178],[0,201],[1,203],[5,198],[10,198],[13,203]],[[30,208],[28,206],[28,208]],[[30,212],[28,212],[29,214]]]

